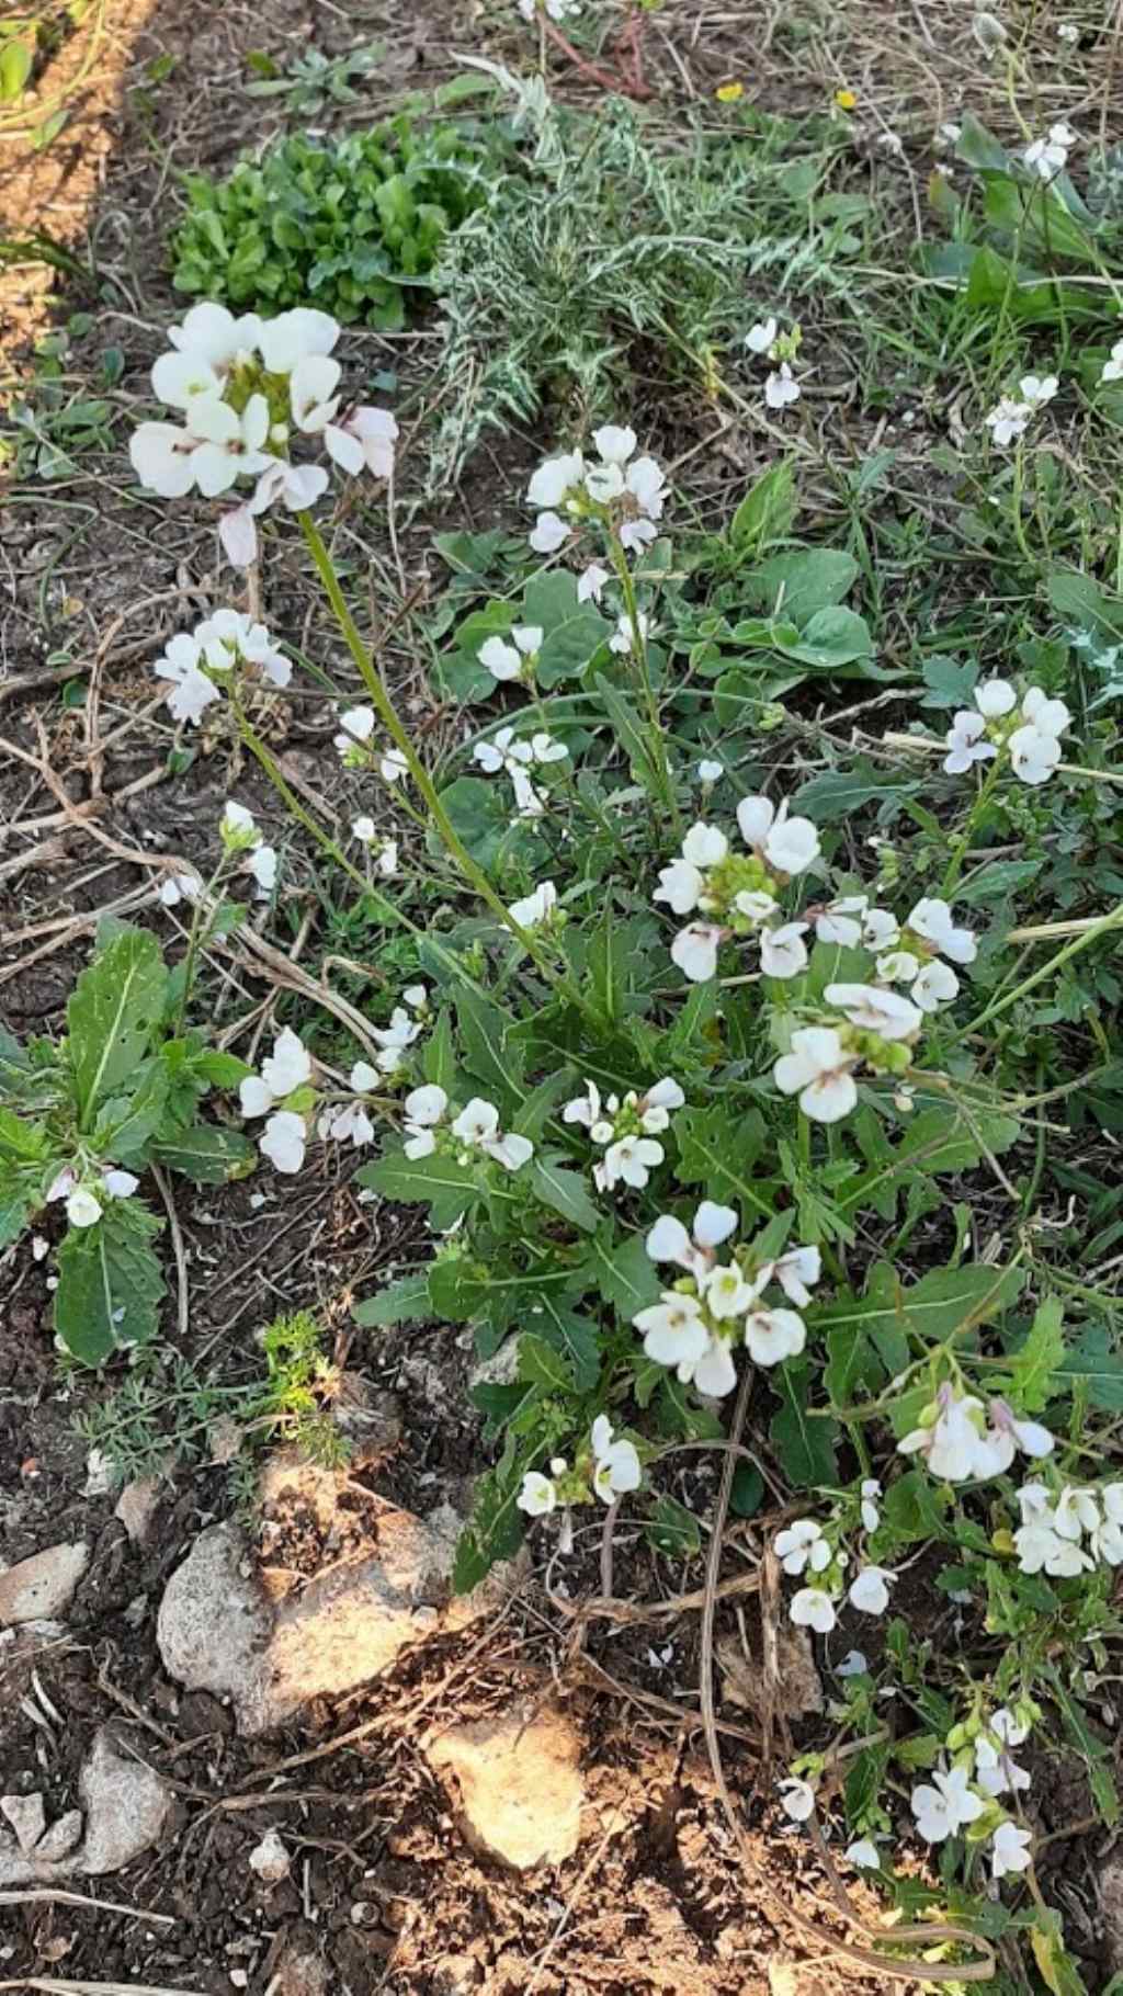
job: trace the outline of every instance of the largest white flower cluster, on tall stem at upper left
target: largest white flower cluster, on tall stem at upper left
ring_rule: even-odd
[[[132,465],[150,491],[182,499],[197,487],[217,499],[253,477],[253,495],[225,513],[221,541],[235,567],[257,557],[255,517],[275,499],[301,513],[325,493],[323,465],[293,463],[293,431],[321,439],[341,471],[389,479],[397,423],[387,409],[343,407],[341,367],[331,359],[339,325],[327,311],[297,305],[275,319],[233,317],[223,305],[193,305],[168,329],[172,353],[152,369],[152,391],[184,423],[142,423]]]

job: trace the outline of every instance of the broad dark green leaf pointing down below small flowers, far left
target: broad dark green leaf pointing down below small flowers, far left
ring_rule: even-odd
[[[92,1228],[70,1228],[58,1251],[54,1329],[82,1365],[148,1343],[160,1325],[162,1222],[140,1200],[110,1200]]]

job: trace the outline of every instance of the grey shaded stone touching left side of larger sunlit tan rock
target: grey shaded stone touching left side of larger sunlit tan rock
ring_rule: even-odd
[[[164,1589],[156,1643],[170,1677],[187,1691],[235,1703],[255,1681],[269,1637],[269,1607],[241,1573],[241,1535],[231,1525],[201,1531]]]

